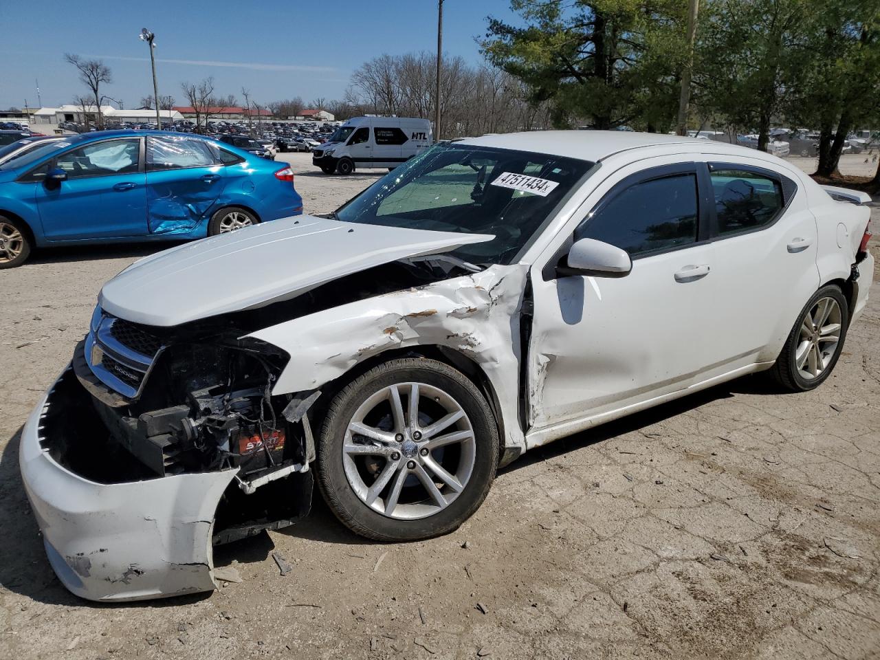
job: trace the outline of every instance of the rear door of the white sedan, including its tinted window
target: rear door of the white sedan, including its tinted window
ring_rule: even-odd
[[[774,361],[819,285],[816,218],[806,195],[794,180],[750,161],[708,163],[717,304],[707,319],[719,351],[708,377]]]

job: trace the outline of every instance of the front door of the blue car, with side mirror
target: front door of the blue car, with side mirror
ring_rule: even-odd
[[[55,188],[36,187],[40,223],[49,241],[147,233],[141,139],[89,143],[55,158],[50,166],[67,172],[67,180]]]

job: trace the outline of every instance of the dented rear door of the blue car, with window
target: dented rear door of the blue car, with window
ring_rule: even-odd
[[[192,231],[224,189],[224,166],[196,137],[148,136],[146,169],[152,234]]]

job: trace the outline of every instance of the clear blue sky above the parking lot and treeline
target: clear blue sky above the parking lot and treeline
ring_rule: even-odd
[[[444,53],[480,62],[475,39],[488,15],[516,22],[509,0],[444,0]],[[216,94],[240,103],[243,86],[252,103],[308,103],[341,98],[351,72],[372,57],[436,50],[436,0],[0,0],[0,109],[39,106],[37,81],[43,106],[86,92],[65,53],[104,60],[113,83],[102,93],[136,108],[152,94],[142,27],[156,34],[159,95],[176,105],[188,105],[181,82],[208,76]]]

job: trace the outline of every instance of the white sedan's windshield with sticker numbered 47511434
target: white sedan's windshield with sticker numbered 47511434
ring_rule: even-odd
[[[493,234],[452,254],[509,264],[590,170],[575,158],[442,144],[413,158],[336,212],[348,223]]]

